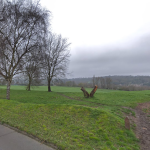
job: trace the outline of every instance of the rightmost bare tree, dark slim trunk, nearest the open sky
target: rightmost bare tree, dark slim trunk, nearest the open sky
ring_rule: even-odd
[[[49,34],[46,45],[43,68],[47,77],[48,92],[51,92],[52,79],[64,77],[67,72],[70,43],[61,35]]]

